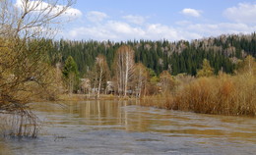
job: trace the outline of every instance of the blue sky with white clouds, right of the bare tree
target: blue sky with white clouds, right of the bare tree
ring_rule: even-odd
[[[73,9],[58,37],[175,41],[256,30],[255,0],[77,0]]]

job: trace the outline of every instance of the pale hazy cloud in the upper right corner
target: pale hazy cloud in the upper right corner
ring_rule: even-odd
[[[256,3],[239,3],[224,10],[224,17],[243,24],[256,24]]]

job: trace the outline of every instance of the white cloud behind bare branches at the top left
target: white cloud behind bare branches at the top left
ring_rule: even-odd
[[[15,3],[15,7],[18,9],[24,8],[24,0],[17,0]],[[32,1],[30,0],[28,3],[28,8],[33,10],[33,13],[52,13],[57,14],[61,10],[65,8],[63,5],[55,5],[54,7],[52,4],[43,2],[43,1]],[[67,8],[67,10],[61,15],[61,17],[65,18],[78,18],[82,16],[82,12],[75,8]]]

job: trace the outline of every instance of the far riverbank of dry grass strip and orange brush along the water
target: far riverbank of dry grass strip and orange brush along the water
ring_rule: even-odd
[[[61,101],[95,100],[85,94],[60,95]],[[219,75],[196,78],[176,85],[172,92],[153,96],[118,97],[101,95],[98,100],[140,100],[140,105],[203,114],[256,116],[256,78],[254,75]]]

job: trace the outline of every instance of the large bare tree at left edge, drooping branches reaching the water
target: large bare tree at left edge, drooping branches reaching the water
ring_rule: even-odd
[[[45,38],[55,34],[73,3],[0,0],[0,113],[21,117],[17,135],[29,135],[30,129],[23,125],[35,121],[27,103],[34,96],[52,94],[56,80],[54,69],[47,63]],[[31,135],[35,136],[33,132]]]

